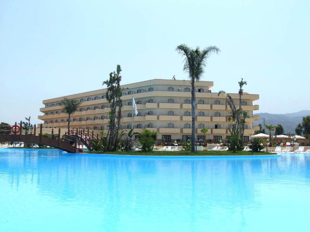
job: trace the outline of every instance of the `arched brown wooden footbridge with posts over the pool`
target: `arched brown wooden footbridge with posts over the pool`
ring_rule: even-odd
[[[37,132],[37,129],[40,129],[40,132]],[[1,129],[2,131],[5,131]],[[7,135],[0,135],[0,142],[24,142],[24,143],[34,143],[34,144],[42,144],[50,147],[58,148],[60,150],[69,152],[69,153],[80,153],[82,149],[80,149],[80,144],[85,145],[90,151],[91,148],[91,140],[96,139],[99,140],[98,135],[94,134],[94,131],[90,132],[89,130],[85,131],[72,129],[68,135],[67,132],[61,133],[60,128],[58,129],[58,133],[54,133],[54,128],[42,128],[42,124],[40,127],[36,127],[34,125],[33,131],[25,131],[23,129],[22,121],[20,121],[20,125],[11,126],[11,130],[6,130]],[[27,133],[28,132],[28,133]]]

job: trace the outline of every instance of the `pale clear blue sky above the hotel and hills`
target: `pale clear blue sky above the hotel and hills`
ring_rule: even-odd
[[[259,112],[309,110],[309,1],[0,1],[0,121],[42,100],[122,84],[187,79],[175,47],[216,45],[203,80],[213,92],[260,95]]]

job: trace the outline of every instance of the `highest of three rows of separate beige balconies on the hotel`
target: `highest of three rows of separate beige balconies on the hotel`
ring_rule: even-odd
[[[84,102],[83,102],[84,103]],[[84,105],[85,106],[85,105]],[[192,104],[188,103],[150,103],[147,102],[145,104],[137,104],[137,109],[138,110],[145,110],[145,109],[154,109],[154,108],[162,108],[162,109],[192,109]],[[229,105],[218,105],[218,104],[196,104],[195,107],[197,110],[231,110]],[[237,106],[239,108],[239,106]],[[259,105],[242,105],[241,106],[242,110],[259,110]],[[41,108],[41,112],[46,112],[46,111],[51,111],[51,110],[61,110],[62,106],[57,105],[57,106],[51,106],[51,107],[44,107]],[[131,105],[123,105],[122,110],[127,111],[127,110],[132,110]],[[87,111],[93,111],[93,112],[106,112],[108,113],[110,109],[108,107],[101,109],[93,109],[93,110],[85,110],[85,111],[80,111],[84,114],[91,114],[86,113]]]

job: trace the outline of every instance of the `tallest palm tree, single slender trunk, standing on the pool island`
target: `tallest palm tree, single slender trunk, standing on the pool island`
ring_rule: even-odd
[[[209,46],[200,50],[199,47],[195,49],[188,47],[185,44],[181,44],[175,49],[179,54],[184,56],[183,71],[188,73],[188,78],[192,85],[192,147],[191,152],[195,152],[195,81],[199,81],[204,73],[206,67],[206,61],[211,53],[218,54],[219,48],[216,46]]]

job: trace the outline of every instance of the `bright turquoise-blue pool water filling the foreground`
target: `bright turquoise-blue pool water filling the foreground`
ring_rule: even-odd
[[[0,231],[310,231],[310,154],[0,149]]]

